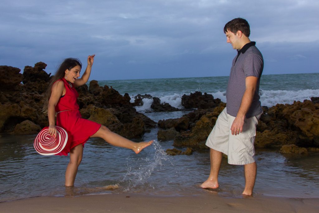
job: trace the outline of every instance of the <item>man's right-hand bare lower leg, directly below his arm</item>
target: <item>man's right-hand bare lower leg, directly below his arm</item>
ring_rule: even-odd
[[[242,192],[244,195],[251,196],[255,186],[257,164],[256,162],[244,165],[245,171],[245,189]]]

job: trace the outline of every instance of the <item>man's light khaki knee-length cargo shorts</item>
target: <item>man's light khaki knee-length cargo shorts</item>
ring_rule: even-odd
[[[256,125],[260,115],[245,118],[242,133],[232,135],[230,127],[235,117],[225,109],[219,114],[216,124],[209,134],[206,146],[228,156],[228,164],[245,165],[255,162]]]

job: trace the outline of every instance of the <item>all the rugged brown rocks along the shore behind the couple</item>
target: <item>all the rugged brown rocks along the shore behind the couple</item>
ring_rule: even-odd
[[[26,66],[21,74],[18,68],[0,66],[0,133],[30,134],[38,131],[39,127],[48,126],[47,114],[42,112],[43,93],[52,76],[44,71],[45,67],[45,63],[39,62],[34,67]],[[207,148],[205,141],[219,113],[226,107],[212,95],[195,92],[183,95],[182,105],[186,109],[197,109],[181,118],[156,123],[137,112],[134,106],[142,106],[143,99],[153,99],[152,110],[155,112],[180,109],[147,94],[137,95],[132,103],[129,94],[121,95],[108,85],[101,87],[96,80],[77,90],[83,118],[101,123],[127,138],[139,138],[158,125],[158,139],[173,140],[176,147]],[[294,146],[312,151],[318,149],[318,102],[319,97],[312,97],[303,102],[263,107],[264,113],[256,129],[255,147],[278,150],[288,146],[283,150],[289,148],[291,152],[295,152]]]

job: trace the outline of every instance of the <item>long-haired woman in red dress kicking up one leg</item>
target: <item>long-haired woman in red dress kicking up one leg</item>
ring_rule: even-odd
[[[81,118],[77,104],[78,92],[75,87],[84,85],[89,80],[93,61],[94,55],[88,56],[85,72],[82,78],[79,78],[81,62],[76,58],[66,58],[56,71],[46,93],[47,98],[43,109],[48,111],[49,134],[52,137],[56,136],[56,113],[56,125],[68,133],[65,148],[56,154],[68,155],[70,153],[70,163],[65,171],[65,186],[74,185],[78,166],[82,160],[83,147],[89,138],[102,138],[114,146],[132,149],[136,154],[153,142],[135,143],[111,132],[106,126]]]

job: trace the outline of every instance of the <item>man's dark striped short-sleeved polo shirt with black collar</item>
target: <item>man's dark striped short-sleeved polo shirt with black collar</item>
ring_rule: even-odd
[[[245,44],[237,50],[237,56],[233,60],[230,70],[227,90],[226,90],[226,109],[227,114],[236,117],[241,106],[241,100],[246,90],[246,77],[255,76],[258,78],[257,87],[253,101],[246,114],[246,118],[263,113],[259,101],[259,82],[263,72],[263,55],[255,46],[256,42]]]

